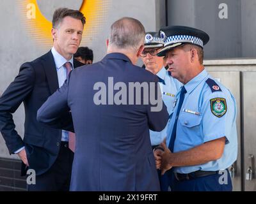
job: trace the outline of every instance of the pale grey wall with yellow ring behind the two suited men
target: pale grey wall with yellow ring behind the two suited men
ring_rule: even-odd
[[[32,61],[51,48],[51,39],[45,40],[40,31],[35,27],[29,27],[28,19],[26,19],[26,5],[29,2],[31,1],[1,0],[0,2],[0,24],[2,25],[0,32],[0,94],[13,81],[23,62]],[[97,2],[99,3],[100,0]],[[83,38],[85,40],[81,43],[81,45],[93,49],[95,62],[104,57],[109,27],[118,18],[125,16],[138,18],[145,26],[146,31],[156,31],[161,25],[165,25],[165,8],[162,0],[102,0],[101,2],[102,5],[99,4],[98,11],[101,18],[97,24],[91,25],[90,29],[93,32],[84,31]],[[79,9],[83,1],[38,0],[36,3],[40,13],[51,20],[51,15],[56,8]],[[88,12],[91,11],[88,10]],[[36,13],[36,20],[38,20],[38,13]],[[42,22],[38,23],[39,26],[44,27]],[[49,29],[50,32],[51,29]],[[22,105],[13,114],[13,119],[18,133],[21,136],[24,135],[24,108]],[[2,136],[0,136],[0,157],[10,157]],[[11,157],[17,158],[16,156]]]

